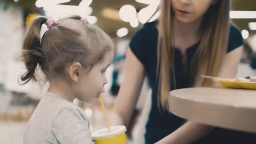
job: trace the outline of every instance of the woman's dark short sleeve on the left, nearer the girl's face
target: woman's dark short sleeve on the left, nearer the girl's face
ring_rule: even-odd
[[[143,26],[133,35],[130,41],[130,49],[138,60],[145,65],[147,62],[147,27]]]

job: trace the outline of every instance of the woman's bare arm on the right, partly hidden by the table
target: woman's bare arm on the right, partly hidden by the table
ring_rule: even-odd
[[[242,46],[237,47],[235,50],[226,54],[223,64],[220,67],[218,74],[219,77],[235,77],[238,63],[240,62],[241,53]],[[176,131],[156,143],[191,143],[197,139],[200,139],[211,129],[212,127],[208,125],[188,121]]]

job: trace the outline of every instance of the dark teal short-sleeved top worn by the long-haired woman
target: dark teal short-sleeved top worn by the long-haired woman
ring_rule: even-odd
[[[230,52],[243,44],[241,32],[234,26],[230,25],[229,43],[227,52]],[[156,82],[156,65],[157,65],[157,46],[158,46],[158,29],[155,27],[155,22],[147,23],[141,27],[132,37],[130,42],[131,51],[137,59],[144,65],[146,76],[149,80],[149,85],[152,88],[152,107],[150,109],[148,122],[146,125],[146,143],[154,143],[161,140],[163,137],[171,134],[174,130],[181,127],[184,119],[167,112],[166,110],[158,109],[157,103],[157,88]],[[199,43],[196,43],[187,49],[187,66],[190,67],[190,62]],[[178,49],[174,50],[174,68],[176,76],[176,87],[189,87],[189,74],[185,74],[182,64],[181,52]],[[173,83],[173,81],[171,81]],[[172,84],[171,84],[172,85]],[[173,87],[171,88],[173,90]]]

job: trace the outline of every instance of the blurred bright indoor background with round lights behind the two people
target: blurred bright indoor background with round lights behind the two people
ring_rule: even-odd
[[[109,111],[123,77],[125,52],[132,35],[146,21],[159,16],[160,0],[6,0],[0,1],[0,143],[22,143],[26,122],[47,89],[37,83],[18,84],[24,65],[19,61],[26,25],[33,16],[45,15],[59,19],[68,15],[88,17],[108,33],[114,41],[114,61],[107,70],[108,84],[104,101]],[[151,17],[151,18],[150,18]],[[256,1],[233,0],[232,22],[241,29],[245,45],[237,77],[256,75]],[[144,125],[150,109],[150,89],[144,80],[131,126],[129,143],[143,143]],[[104,127],[104,116],[98,100],[84,104],[77,100],[91,123],[91,130]]]

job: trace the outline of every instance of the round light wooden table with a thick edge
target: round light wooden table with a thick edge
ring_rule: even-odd
[[[194,122],[256,133],[256,91],[184,88],[170,92],[170,111]]]

